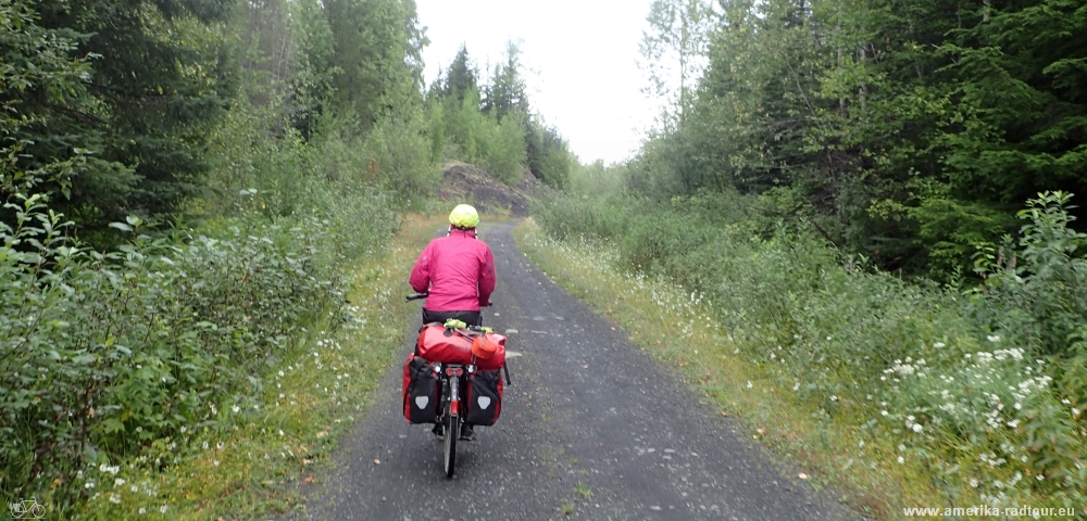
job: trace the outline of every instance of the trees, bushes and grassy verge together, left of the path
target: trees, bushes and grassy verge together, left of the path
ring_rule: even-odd
[[[567,182],[516,46],[426,86],[426,43],[411,0],[0,0],[5,504],[171,516],[132,473],[268,421],[442,162]]]

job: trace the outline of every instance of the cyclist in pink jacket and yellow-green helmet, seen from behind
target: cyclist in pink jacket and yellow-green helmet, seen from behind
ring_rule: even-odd
[[[487,244],[476,239],[479,214],[459,204],[449,214],[449,233],[427,244],[415,260],[409,283],[418,293],[428,293],[423,306],[423,323],[461,320],[483,326],[482,306],[495,291],[495,257]],[[435,425],[435,434],[441,427]],[[464,423],[461,440],[473,440],[472,425]]]

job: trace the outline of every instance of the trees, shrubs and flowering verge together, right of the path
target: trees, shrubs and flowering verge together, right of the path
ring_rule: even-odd
[[[870,513],[922,488],[1087,505],[1087,4],[657,0],[647,21],[655,125],[632,160],[574,166],[535,247],[711,303],[727,350],[691,348],[795,399],[819,433],[777,444],[847,460],[821,468]],[[549,269],[592,266],[565,255]]]

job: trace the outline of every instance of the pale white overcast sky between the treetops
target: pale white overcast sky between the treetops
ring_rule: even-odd
[[[637,149],[657,103],[646,98],[638,42],[650,0],[416,0],[430,45],[426,82],[461,43],[482,75],[520,43],[528,100],[583,163],[619,162]],[[489,67],[488,67],[489,64]]]

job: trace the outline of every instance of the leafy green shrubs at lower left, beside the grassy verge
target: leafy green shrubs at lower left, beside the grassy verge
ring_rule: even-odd
[[[130,218],[114,227],[132,242],[102,254],[64,237],[41,201],[10,204],[18,226],[0,225],[0,490],[60,511],[97,493],[101,469],[177,461],[202,431],[260,408],[261,374],[342,302],[337,268],[375,247],[345,245],[370,240],[343,217],[357,212],[251,214],[175,239]]]

